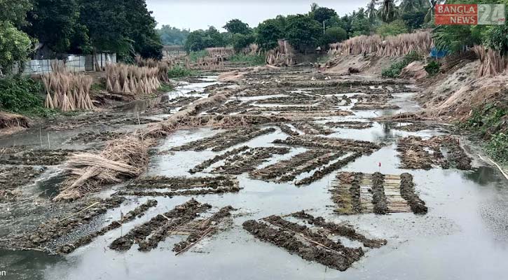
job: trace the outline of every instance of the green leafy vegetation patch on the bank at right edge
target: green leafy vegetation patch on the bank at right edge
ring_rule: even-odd
[[[475,139],[483,142],[483,148],[493,160],[508,165],[508,109],[488,104],[474,109],[471,118],[458,126],[469,130]]]

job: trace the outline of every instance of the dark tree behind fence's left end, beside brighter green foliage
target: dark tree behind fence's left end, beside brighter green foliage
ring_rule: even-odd
[[[67,52],[71,45],[79,6],[76,0],[34,0],[27,13],[27,34],[38,38],[55,52]]]

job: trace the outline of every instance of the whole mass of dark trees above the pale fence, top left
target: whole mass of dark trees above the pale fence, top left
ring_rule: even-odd
[[[27,59],[37,42],[62,54],[116,52],[132,59],[162,53],[145,0],[0,0],[0,25],[4,73],[13,61]]]

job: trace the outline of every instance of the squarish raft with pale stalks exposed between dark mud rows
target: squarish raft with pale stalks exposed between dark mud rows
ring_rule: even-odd
[[[338,214],[427,213],[425,202],[415,193],[413,176],[408,173],[341,172],[330,192]]]

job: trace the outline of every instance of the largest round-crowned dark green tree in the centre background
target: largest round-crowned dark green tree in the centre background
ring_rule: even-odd
[[[306,52],[316,48],[322,36],[320,23],[307,15],[295,15],[287,18],[286,38],[296,50]]]

